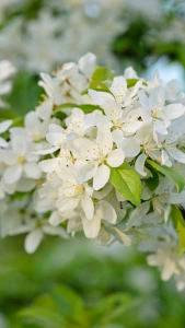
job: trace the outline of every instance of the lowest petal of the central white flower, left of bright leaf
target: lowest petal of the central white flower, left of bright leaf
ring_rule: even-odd
[[[93,188],[94,190],[102,189],[109,179],[109,167],[102,164],[97,167],[96,173],[93,178]]]

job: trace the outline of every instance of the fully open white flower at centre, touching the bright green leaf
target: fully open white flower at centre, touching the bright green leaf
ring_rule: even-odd
[[[125,159],[122,149],[113,149],[113,138],[107,126],[97,130],[95,140],[73,140],[71,150],[79,160],[79,179],[85,181],[93,178],[94,190],[100,190],[108,181],[109,166],[120,166]]]

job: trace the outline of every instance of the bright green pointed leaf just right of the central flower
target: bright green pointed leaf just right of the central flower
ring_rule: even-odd
[[[130,165],[125,163],[118,168],[112,168],[111,183],[115,189],[132,204],[138,206],[140,203],[140,176]]]

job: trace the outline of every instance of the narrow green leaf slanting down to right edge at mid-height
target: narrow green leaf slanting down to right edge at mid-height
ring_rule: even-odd
[[[181,175],[175,168],[173,167],[167,167],[167,166],[161,166],[157,162],[152,160],[147,160],[147,163],[153,167],[155,171],[162,173],[165,175],[169,179],[171,179],[175,186],[177,191],[182,191],[185,187],[185,177]]]

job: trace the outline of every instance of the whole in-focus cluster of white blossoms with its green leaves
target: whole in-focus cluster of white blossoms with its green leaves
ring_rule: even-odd
[[[0,126],[0,233],[115,239],[185,288],[185,95],[158,74],[115,77],[93,54],[42,73],[24,125]]]

